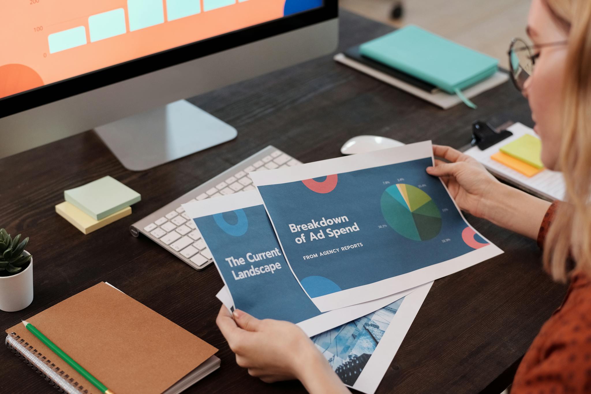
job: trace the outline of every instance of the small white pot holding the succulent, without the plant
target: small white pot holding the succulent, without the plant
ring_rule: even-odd
[[[28,255],[27,250],[22,252]],[[0,310],[16,312],[33,302],[33,258],[24,271],[17,275],[0,276]]]

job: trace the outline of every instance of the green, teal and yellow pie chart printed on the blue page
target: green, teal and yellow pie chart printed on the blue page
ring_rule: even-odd
[[[382,193],[380,205],[388,225],[403,237],[426,241],[441,230],[439,208],[418,187],[405,183],[391,185]]]

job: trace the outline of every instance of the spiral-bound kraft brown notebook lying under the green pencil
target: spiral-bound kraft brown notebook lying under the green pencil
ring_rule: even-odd
[[[116,394],[174,394],[219,368],[217,349],[105,282],[27,318]],[[66,393],[100,394],[22,324],[6,344]]]

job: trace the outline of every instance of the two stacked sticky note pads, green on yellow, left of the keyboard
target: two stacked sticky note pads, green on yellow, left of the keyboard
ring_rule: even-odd
[[[56,212],[81,232],[88,234],[131,214],[131,205],[141,200],[136,191],[106,176],[64,191]]]

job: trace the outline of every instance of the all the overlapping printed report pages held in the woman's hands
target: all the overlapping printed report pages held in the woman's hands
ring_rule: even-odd
[[[183,207],[230,310],[298,324],[343,383],[373,394],[434,279],[502,253],[432,164],[419,142],[251,172],[257,190]]]

